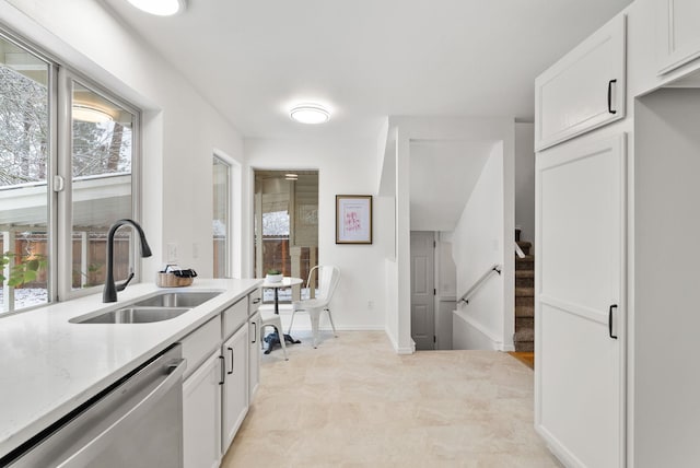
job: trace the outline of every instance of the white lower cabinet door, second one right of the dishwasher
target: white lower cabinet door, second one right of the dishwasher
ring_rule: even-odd
[[[225,383],[223,385],[223,452],[229,449],[248,411],[248,327],[243,326],[223,343]]]

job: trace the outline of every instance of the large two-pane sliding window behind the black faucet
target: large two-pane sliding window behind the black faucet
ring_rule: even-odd
[[[109,226],[137,218],[138,117],[0,34],[0,314],[103,283]],[[136,268],[133,244],[120,230],[117,279]]]

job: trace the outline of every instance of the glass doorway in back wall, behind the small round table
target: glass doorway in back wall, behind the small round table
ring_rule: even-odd
[[[318,265],[318,171],[255,171],[255,274],[277,270],[306,282]],[[311,291],[303,291],[304,296]],[[302,297],[295,285],[279,291],[279,303]],[[264,303],[273,302],[266,290]]]

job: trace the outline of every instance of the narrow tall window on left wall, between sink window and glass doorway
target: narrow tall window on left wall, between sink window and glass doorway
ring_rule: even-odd
[[[230,201],[231,165],[214,155],[213,157],[213,278],[226,278],[230,272]]]

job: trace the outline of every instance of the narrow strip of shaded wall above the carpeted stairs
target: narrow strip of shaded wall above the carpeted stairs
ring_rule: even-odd
[[[535,124],[515,124],[515,225],[535,245]]]

